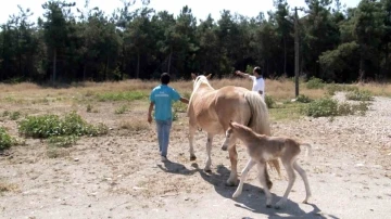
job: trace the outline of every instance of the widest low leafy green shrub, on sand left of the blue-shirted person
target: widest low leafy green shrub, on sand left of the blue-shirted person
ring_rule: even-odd
[[[103,124],[92,126],[72,112],[63,119],[56,115],[27,116],[18,123],[18,132],[26,137],[100,136],[108,132]]]

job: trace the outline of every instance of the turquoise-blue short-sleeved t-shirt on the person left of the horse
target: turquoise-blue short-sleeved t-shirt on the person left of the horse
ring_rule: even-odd
[[[173,119],[172,102],[180,99],[179,93],[166,85],[155,87],[150,95],[150,101],[155,104],[155,120]]]

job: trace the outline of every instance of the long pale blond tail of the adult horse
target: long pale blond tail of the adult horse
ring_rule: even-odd
[[[272,136],[267,105],[263,101],[260,93],[249,91],[244,94],[244,98],[251,110],[248,127],[250,127],[256,133]],[[270,160],[269,165],[274,166],[278,175],[280,175],[280,165],[278,159]]]

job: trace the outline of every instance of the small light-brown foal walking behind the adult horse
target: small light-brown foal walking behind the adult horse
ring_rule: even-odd
[[[267,137],[265,134],[255,133],[252,129],[242,126],[237,123],[229,123],[229,128],[226,131],[226,139],[223,146],[226,146],[226,142],[229,142],[230,136],[235,133],[247,146],[250,155],[250,160],[242,171],[240,183],[232,197],[238,197],[243,189],[243,182],[250,169],[257,164],[260,181],[264,188],[266,194],[266,207],[272,207],[272,194],[269,189],[266,186],[266,180],[263,169],[265,168],[266,162],[275,158],[280,158],[289,177],[288,188],[283,194],[283,197],[276,204],[275,208],[280,208],[288,199],[288,195],[293,186],[295,180],[297,170],[304,181],[306,196],[303,203],[307,203],[311,191],[310,184],[305,171],[297,163],[298,155],[300,154],[300,145],[305,145],[311,151],[310,144],[299,143],[290,138],[282,137]]]

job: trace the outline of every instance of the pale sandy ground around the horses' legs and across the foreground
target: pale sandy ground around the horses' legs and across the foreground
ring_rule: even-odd
[[[338,98],[338,96],[337,96]],[[0,182],[12,185],[0,195],[0,218],[388,218],[391,214],[391,100],[376,98],[366,116],[301,118],[273,121],[274,134],[292,136],[313,145],[312,156],[302,156],[313,197],[302,204],[304,184],[298,176],[287,205],[266,208],[253,168],[241,196],[224,183],[229,176],[228,153],[214,139],[212,172],[205,160],[203,132],[197,133],[195,162],[189,160],[185,114],[174,123],[169,163],[157,154],[154,126],[140,131],[121,128],[121,123],[144,120],[146,108],[133,103],[126,114],[113,113],[112,103],[100,103],[99,113],[74,104],[45,106],[5,104],[3,110],[65,113],[77,110],[90,123],[102,121],[108,136],[81,138],[77,145],[58,151],[50,158],[47,144],[27,139],[0,156]],[[1,113],[1,112],[0,112]],[[0,125],[16,134],[15,121]],[[238,146],[241,170],[248,159]],[[303,153],[304,154],[304,153]],[[288,184],[270,170],[273,204]]]

